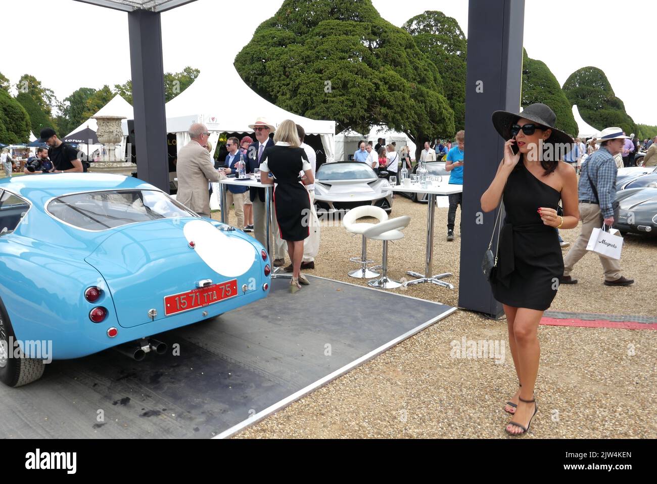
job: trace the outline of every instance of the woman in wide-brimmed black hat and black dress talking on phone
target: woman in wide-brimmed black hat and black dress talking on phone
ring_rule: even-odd
[[[481,203],[490,212],[504,197],[505,224],[491,287],[504,305],[518,375],[519,389],[505,407],[514,414],[506,427],[511,435],[525,433],[538,409],[533,399],[541,353],[537,331],[564,268],[556,229],[572,229],[579,222],[575,170],[560,161],[570,151],[572,137],[556,130],[555,121],[555,113],[544,104],[530,105],[522,113],[493,113],[493,125],[507,141]],[[560,201],[563,216],[556,213]]]

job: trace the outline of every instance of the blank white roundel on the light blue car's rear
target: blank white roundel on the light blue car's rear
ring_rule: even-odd
[[[240,237],[225,235],[210,222],[187,222],[183,233],[187,243],[194,242],[194,249],[190,250],[196,251],[203,262],[222,276],[242,276],[251,268],[256,258],[253,245]]]

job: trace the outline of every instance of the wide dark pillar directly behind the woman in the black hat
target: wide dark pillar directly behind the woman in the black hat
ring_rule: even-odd
[[[483,214],[480,198],[495,178],[503,139],[491,123],[493,111],[520,109],[524,0],[470,0],[468,74],[465,96],[467,163],[464,163],[459,306],[499,316],[481,270],[497,210]],[[493,241],[493,253],[495,249]]]

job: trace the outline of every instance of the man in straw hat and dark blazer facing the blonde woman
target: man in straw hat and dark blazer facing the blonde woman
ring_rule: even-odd
[[[267,122],[265,118],[258,118],[254,124],[250,124],[249,128],[256,133],[256,141],[251,143],[246,151],[246,172],[253,173],[256,168],[260,168],[260,163],[264,160],[262,153],[265,149],[274,145],[274,142],[269,139],[269,133],[275,132],[276,128],[273,124]],[[254,222],[254,235],[256,239],[267,247],[267,233],[265,232],[265,189],[251,188],[249,189],[249,198],[253,204],[253,222]],[[275,267],[283,266],[285,263],[285,241],[281,239],[279,233],[276,217],[273,217],[274,224],[274,260]],[[271,254],[269,254],[271,256]]]

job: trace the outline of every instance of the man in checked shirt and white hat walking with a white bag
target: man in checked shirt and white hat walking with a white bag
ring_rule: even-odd
[[[614,199],[616,198],[616,162],[614,155],[623,149],[627,136],[620,128],[606,128],[597,143],[600,149],[587,158],[579,176],[579,218],[581,233],[568,254],[564,257],[564,275],[560,284],[576,284],[570,273],[579,259],[586,253],[586,246],[594,228],[614,224]],[[633,279],[621,274],[620,261],[600,256],[604,269],[604,284],[612,286],[630,285]]]

